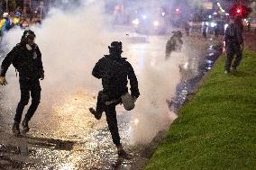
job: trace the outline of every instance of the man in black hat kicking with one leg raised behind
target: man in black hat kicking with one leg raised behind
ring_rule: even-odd
[[[109,55],[100,58],[92,71],[93,76],[102,79],[103,90],[98,93],[96,110],[93,108],[89,110],[97,120],[101,118],[102,112],[105,112],[108,128],[117,148],[118,156],[127,158],[128,154],[124,151],[120,142],[115,106],[123,103],[124,109],[132,110],[140,92],[132,65],[126,58],[121,57],[123,52],[122,42],[113,41],[108,49]],[[128,93],[127,77],[130,80],[131,94]]]

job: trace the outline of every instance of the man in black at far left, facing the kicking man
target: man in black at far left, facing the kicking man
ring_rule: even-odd
[[[0,85],[7,85],[5,73],[11,64],[19,73],[21,100],[18,103],[14,117],[13,132],[15,136],[20,134],[23,109],[29,103],[30,94],[32,96],[32,104],[22,122],[24,132],[30,130],[28,123],[32,119],[41,99],[39,79],[42,80],[44,78],[44,70],[41,62],[41,51],[34,43],[34,39],[35,34],[33,31],[24,31],[21,42],[6,55],[0,70]]]

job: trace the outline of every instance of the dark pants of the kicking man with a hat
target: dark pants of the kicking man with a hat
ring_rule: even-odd
[[[112,103],[110,105],[105,105],[105,102],[110,100],[111,99],[109,99],[106,94],[100,91],[97,96],[96,112],[97,114],[102,114],[103,112],[105,112],[106,122],[108,125],[108,129],[110,130],[112,140],[114,142],[114,145],[118,146],[121,143],[120,143],[120,135],[117,127],[115,106],[118,103],[120,103],[120,101],[118,100],[117,102]]]

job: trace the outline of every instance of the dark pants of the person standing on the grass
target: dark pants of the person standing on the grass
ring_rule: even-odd
[[[233,57],[234,61],[233,61]],[[224,69],[227,71],[230,71],[230,67],[238,67],[242,60],[242,50],[240,48],[239,44],[227,44],[226,47],[226,60],[225,60],[225,66]],[[232,64],[233,61],[233,64]]]

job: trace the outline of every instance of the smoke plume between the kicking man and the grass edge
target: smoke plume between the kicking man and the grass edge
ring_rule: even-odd
[[[131,121],[131,142],[148,143],[160,130],[167,130],[177,118],[167,100],[174,96],[180,81],[178,66],[187,60],[184,53],[173,53],[167,61],[146,67],[142,75],[142,96],[136,103]]]

